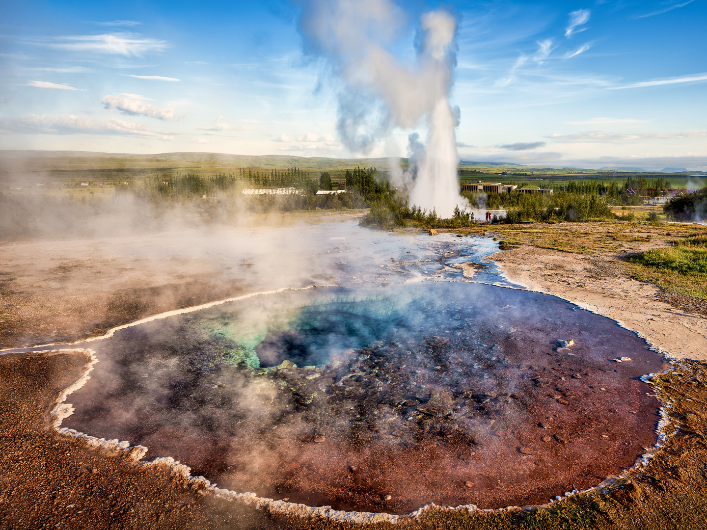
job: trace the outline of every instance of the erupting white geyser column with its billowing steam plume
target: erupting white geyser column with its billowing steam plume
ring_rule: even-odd
[[[307,0],[300,29],[308,51],[325,57],[342,82],[337,131],[347,148],[368,153],[393,127],[428,126],[426,148],[410,136],[411,167],[402,172],[393,164],[392,178],[415,204],[450,216],[463,200],[455,141],[459,110],[448,100],[457,20],[441,9],[423,14],[417,60],[407,66],[387,49],[404,18],[390,0]]]

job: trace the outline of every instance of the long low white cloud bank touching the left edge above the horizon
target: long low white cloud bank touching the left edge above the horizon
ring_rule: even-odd
[[[123,119],[93,119],[87,116],[64,114],[59,117],[28,114],[16,118],[0,119],[0,130],[4,132],[38,134],[129,134],[132,136],[155,136],[146,126],[126,122]]]

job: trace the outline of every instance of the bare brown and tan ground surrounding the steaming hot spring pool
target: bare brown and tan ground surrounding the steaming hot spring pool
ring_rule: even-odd
[[[538,231],[532,233],[518,230],[515,239],[508,239],[529,246],[497,254],[494,259],[498,258],[514,281],[585,303],[624,322],[656,348],[683,359],[654,378],[656,394],[670,404],[667,432],[671,436],[662,448],[645,468],[628,473],[612,488],[575,495],[550,507],[496,514],[437,510],[416,519],[401,519],[400,524],[423,529],[707,528],[707,364],[699,360],[707,352],[703,305],[692,297],[675,298],[632,280],[621,261],[626,252],[665,245],[676,230],[687,233],[694,228],[662,228],[671,235],[651,239],[646,237],[648,228],[627,227],[636,233],[630,237],[625,231],[612,234],[617,230],[607,223],[583,223],[571,228],[572,233],[560,227],[556,235],[552,235],[554,227],[547,226],[534,227]],[[169,310],[191,305],[192,297],[221,298],[199,285],[200,278],[194,275],[204,271],[197,268],[187,267],[184,273],[180,266],[156,260],[154,264],[168,270],[152,269],[149,280],[130,273],[130,281],[124,281],[125,274],[110,263],[103,264],[101,272],[106,276],[102,277],[92,276],[93,269],[88,267],[64,265],[64,270],[62,264],[82,252],[56,252],[45,260],[40,249],[46,245],[42,245],[33,252],[1,247],[4,285],[0,303],[5,312],[0,317],[6,318],[0,326],[6,327],[0,328],[0,341],[6,348],[99,334],[94,331],[100,329],[98,324],[124,322],[158,307]],[[140,267],[135,270],[139,272]],[[177,278],[180,274],[185,278]],[[62,275],[76,276],[64,282],[64,288],[49,283]],[[218,276],[215,283],[242,277],[233,271]],[[94,279],[105,278],[112,281],[96,288]],[[192,286],[175,287],[186,284]],[[238,283],[230,285],[238,288]],[[157,294],[150,295],[154,288]],[[111,306],[112,293],[122,290],[126,302]],[[163,292],[168,293],[164,298]],[[42,307],[47,300],[53,301]],[[117,308],[110,317],[109,307]],[[0,357],[0,529],[359,527],[276,516],[216,500],[170,476],[166,469],[136,466],[57,435],[48,427],[47,411],[59,389],[78,377],[85,362],[79,354]]]

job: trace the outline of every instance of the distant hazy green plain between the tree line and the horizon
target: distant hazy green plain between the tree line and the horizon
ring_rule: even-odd
[[[400,158],[401,167],[407,168],[407,158]],[[158,155],[133,155],[117,153],[92,153],[81,151],[0,151],[0,189],[6,192],[27,193],[30,189],[64,189],[68,195],[87,198],[96,194],[111,194],[110,187],[132,183],[146,177],[175,177],[177,174],[218,175],[235,173],[240,168],[270,171],[297,167],[310,178],[318,178],[327,171],[332,177],[342,177],[354,167],[390,169],[389,158],[306,158],[287,155],[227,155],[222,153],[160,153]],[[586,170],[568,167],[532,167],[491,163],[462,162],[459,165],[462,182],[493,181],[533,184],[539,187],[563,185],[570,180],[593,179],[602,184],[622,184],[626,177],[645,177],[653,180],[663,177],[672,187],[684,188],[691,179],[707,184],[705,177],[689,177],[682,173],[633,172],[626,170]],[[542,179],[542,180],[538,180]],[[81,182],[90,184],[80,191]],[[98,185],[97,182],[104,182]],[[36,184],[42,184],[37,186]],[[700,186],[700,187],[701,187]],[[13,188],[13,190],[11,190]],[[18,190],[17,188],[22,188]],[[53,192],[52,192],[53,193]]]

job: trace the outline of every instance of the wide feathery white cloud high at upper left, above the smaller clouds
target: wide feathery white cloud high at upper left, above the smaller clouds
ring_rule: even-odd
[[[71,35],[55,37],[49,47],[69,49],[74,52],[98,52],[129,57],[142,57],[147,52],[162,52],[169,45],[164,40],[156,40],[132,33],[105,33],[103,35]]]

